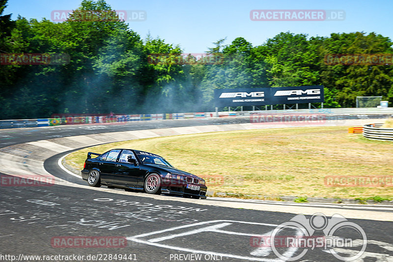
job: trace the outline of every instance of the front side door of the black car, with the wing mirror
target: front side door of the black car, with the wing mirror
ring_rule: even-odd
[[[137,159],[131,150],[124,149],[121,152],[113,173],[113,183],[134,186],[138,184],[140,177],[140,165],[128,162],[128,157]],[[137,160],[138,161],[138,160]]]

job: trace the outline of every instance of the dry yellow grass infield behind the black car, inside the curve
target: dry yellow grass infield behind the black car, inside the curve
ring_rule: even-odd
[[[348,134],[347,127],[227,131],[130,140],[66,157],[82,169],[88,151],[131,148],[165,157],[205,178],[208,190],[327,198],[392,197],[393,187],[327,187],[325,176],[391,176],[392,142]],[[72,162],[74,163],[72,163]]]

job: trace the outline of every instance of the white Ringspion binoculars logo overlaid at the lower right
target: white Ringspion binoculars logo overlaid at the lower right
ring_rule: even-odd
[[[280,224],[271,235],[252,236],[250,245],[261,250],[270,248],[282,261],[298,261],[315,248],[341,261],[355,261],[365,253],[367,236],[362,227],[339,214],[331,218],[322,213],[310,218],[299,214]],[[283,247],[295,252],[288,253]]]

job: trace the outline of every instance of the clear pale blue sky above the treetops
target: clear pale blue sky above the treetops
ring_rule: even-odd
[[[72,10],[82,0],[8,0],[4,14],[27,19],[53,20],[56,10]],[[230,44],[244,37],[258,46],[280,32],[329,36],[331,33],[375,32],[393,39],[392,0],[106,0],[114,10],[141,11],[143,21],[129,22],[142,39],[150,33],[166,43],[179,45],[186,53],[203,53],[225,38]],[[252,21],[252,10],[268,17],[270,10],[339,10],[338,21]],[[293,15],[291,11],[290,15]],[[306,11],[307,12],[307,11]],[[329,11],[327,11],[329,14]],[[336,14],[338,14],[336,12]],[[139,14],[135,13],[134,14]],[[295,12],[295,15],[300,14]]]

